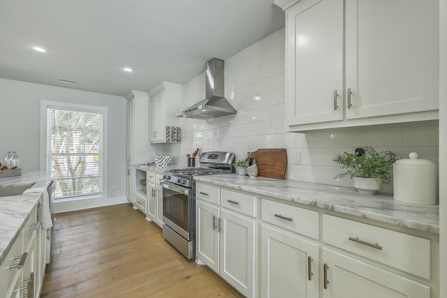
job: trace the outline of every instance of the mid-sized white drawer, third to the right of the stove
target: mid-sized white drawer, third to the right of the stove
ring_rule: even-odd
[[[266,199],[261,204],[263,221],[314,239],[319,238],[318,212]]]

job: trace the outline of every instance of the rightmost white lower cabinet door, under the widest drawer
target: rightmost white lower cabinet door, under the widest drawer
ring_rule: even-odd
[[[327,269],[323,298],[429,298],[430,287],[323,248]],[[323,271],[324,275],[324,271]]]

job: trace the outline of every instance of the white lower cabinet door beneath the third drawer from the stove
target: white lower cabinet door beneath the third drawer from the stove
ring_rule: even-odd
[[[318,279],[318,245],[261,226],[261,297],[318,297]]]

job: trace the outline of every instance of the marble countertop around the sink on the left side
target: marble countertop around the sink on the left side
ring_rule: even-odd
[[[22,176],[0,178],[0,187],[34,184],[34,188],[46,188],[50,181],[51,174],[47,172],[24,173]],[[0,197],[0,264],[40,198],[41,193]]]

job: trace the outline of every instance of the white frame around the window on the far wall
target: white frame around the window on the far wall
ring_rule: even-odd
[[[99,107],[95,105],[80,105],[75,103],[64,103],[58,101],[50,101],[50,100],[41,100],[41,145],[40,145],[40,170],[43,172],[47,172],[47,108],[61,109],[61,110],[73,110],[78,112],[90,112],[90,113],[98,113],[103,115],[103,152],[102,152],[102,168],[101,168],[101,177],[102,177],[102,193],[94,194],[94,195],[81,195],[81,196],[73,196],[69,198],[59,198],[58,202],[64,202],[68,200],[89,200],[91,198],[107,198],[107,168],[108,168],[108,146],[107,146],[107,135],[108,135],[108,108],[107,107]],[[51,172],[47,173],[49,179],[51,178]]]

